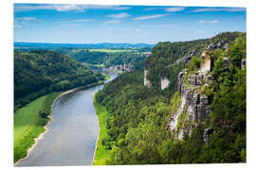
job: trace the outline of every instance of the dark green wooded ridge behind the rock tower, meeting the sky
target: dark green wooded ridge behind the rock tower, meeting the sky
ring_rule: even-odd
[[[149,70],[148,78],[152,86],[159,88],[160,77],[167,76],[172,79],[168,91],[172,94],[177,90],[176,76],[184,68],[186,57],[192,57],[193,67],[200,66],[200,55],[210,44],[219,42],[231,43],[237,37],[245,35],[242,32],[224,32],[210,39],[191,42],[159,42],[152,50],[152,55],[145,61],[145,69]],[[192,55],[191,55],[192,54]],[[183,60],[184,59],[184,60]]]

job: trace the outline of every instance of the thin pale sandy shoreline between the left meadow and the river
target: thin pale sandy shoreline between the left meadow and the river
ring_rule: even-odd
[[[34,142],[35,142],[35,143],[32,144],[31,147],[29,147],[29,148],[27,149],[27,156],[24,157],[24,158],[22,158],[22,159],[20,159],[19,161],[16,161],[16,162],[14,163],[14,166],[17,166],[20,161],[23,161],[23,160],[27,159],[27,158],[29,157],[31,151],[33,150],[33,148],[34,148],[34,147],[36,146],[36,144],[38,143],[38,141],[44,138],[44,135],[45,135],[46,132],[49,130],[49,129],[47,128],[48,125],[53,121],[52,114],[53,114],[54,105],[56,104],[56,102],[57,102],[61,97],[63,97],[64,95],[66,95],[66,94],[68,94],[68,93],[73,93],[73,92],[75,92],[75,91],[82,90],[82,89],[88,89],[88,88],[90,88],[90,87],[97,86],[97,85],[101,85],[101,84],[103,84],[103,82],[93,83],[93,84],[90,84],[90,85],[87,85],[87,86],[82,86],[82,87],[78,87],[78,88],[75,88],[75,89],[71,89],[71,90],[69,90],[69,91],[66,91],[66,92],[61,93],[60,95],[58,95],[58,96],[54,99],[54,101],[53,101],[53,103],[52,103],[52,105],[51,105],[51,112],[50,112],[50,114],[47,116],[50,120],[47,122],[46,126],[44,127],[46,130],[45,130],[43,133],[41,133],[37,138],[34,139]],[[98,116],[97,116],[97,118],[98,118]],[[98,121],[99,121],[99,118],[98,118]],[[98,141],[98,140],[97,140],[97,141]]]

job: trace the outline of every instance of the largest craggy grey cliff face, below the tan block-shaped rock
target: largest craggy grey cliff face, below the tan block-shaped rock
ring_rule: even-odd
[[[180,93],[181,103],[170,119],[169,129],[175,130],[178,139],[183,138],[185,131],[192,132],[192,122],[197,124],[204,122],[210,114],[210,98],[200,92],[202,86],[209,86],[213,81],[213,76],[206,75],[200,70],[188,76],[185,82],[187,71],[180,72],[177,76],[178,93]],[[178,128],[177,123],[181,114],[185,114],[186,122]],[[184,116],[184,115],[183,115]]]

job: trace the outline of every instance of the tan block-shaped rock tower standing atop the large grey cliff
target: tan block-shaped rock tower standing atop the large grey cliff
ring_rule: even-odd
[[[201,66],[200,70],[201,72],[210,72],[213,66],[213,59],[210,56],[210,53],[208,51],[203,51],[201,55]]]

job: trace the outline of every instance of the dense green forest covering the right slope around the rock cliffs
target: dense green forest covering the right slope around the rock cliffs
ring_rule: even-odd
[[[202,89],[211,98],[210,115],[177,139],[168,124],[181,100],[176,92],[178,73],[185,68],[189,74],[198,71],[202,51],[222,41],[229,48],[212,50],[213,82]],[[108,110],[108,135],[101,141],[111,150],[107,164],[246,162],[247,68],[241,66],[247,57],[246,42],[246,34],[240,32],[192,42],[159,42],[145,61],[151,87],[143,85],[143,71],[122,74],[107,83],[96,94]],[[180,62],[192,50],[196,51],[192,59]],[[162,75],[171,79],[164,91],[159,88]],[[185,119],[181,117],[177,126]],[[213,131],[207,144],[206,128]]]

